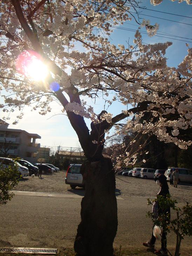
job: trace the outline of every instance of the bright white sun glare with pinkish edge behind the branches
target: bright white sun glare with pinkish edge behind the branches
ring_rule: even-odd
[[[34,81],[44,81],[49,73],[41,56],[34,51],[21,53],[16,62],[16,69]]]

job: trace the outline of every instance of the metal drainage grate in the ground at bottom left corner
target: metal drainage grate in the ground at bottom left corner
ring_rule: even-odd
[[[12,252],[12,253],[41,253],[41,254],[56,254],[57,249],[47,249],[47,248],[0,248],[1,252]]]

